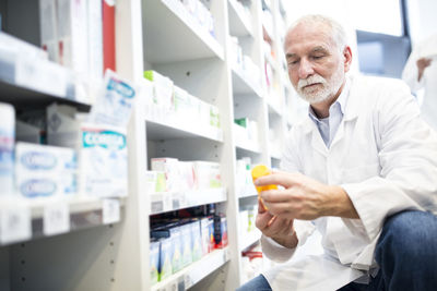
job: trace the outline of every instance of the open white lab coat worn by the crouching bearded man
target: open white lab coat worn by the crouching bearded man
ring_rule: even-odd
[[[306,118],[290,133],[282,168],[341,185],[361,219],[295,220],[299,245],[314,228],[320,231],[324,257],[299,260],[298,268],[292,259],[263,271],[273,290],[335,290],[375,270],[374,251],[388,216],[403,209],[437,213],[437,136],[420,118],[410,88],[398,80],[368,76],[350,82],[331,147]],[[261,244],[264,255],[277,262],[295,252],[264,237]]]

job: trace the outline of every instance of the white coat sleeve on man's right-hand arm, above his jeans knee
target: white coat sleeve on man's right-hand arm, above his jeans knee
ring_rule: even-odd
[[[380,174],[342,185],[370,241],[390,215],[405,209],[437,210],[436,133],[420,118],[409,88],[394,83],[382,88],[385,96],[373,111]]]

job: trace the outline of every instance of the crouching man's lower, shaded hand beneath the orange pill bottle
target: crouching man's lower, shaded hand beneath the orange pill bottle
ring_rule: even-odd
[[[256,226],[261,232],[279,244],[294,248],[297,246],[297,237],[293,228],[293,219],[279,218],[267,211],[258,198],[258,215]]]

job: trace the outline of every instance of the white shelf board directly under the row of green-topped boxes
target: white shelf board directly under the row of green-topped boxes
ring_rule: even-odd
[[[150,117],[147,117],[150,118]],[[214,128],[199,128],[199,124],[187,124],[176,121],[146,120],[149,140],[172,140],[186,137],[204,137],[215,142],[223,142],[223,130]]]

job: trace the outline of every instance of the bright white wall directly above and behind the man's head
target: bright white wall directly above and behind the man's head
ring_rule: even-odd
[[[356,46],[356,33],[353,22],[347,13],[347,8],[351,1],[349,0],[293,0],[286,2],[286,9],[288,14],[288,21],[292,23],[299,16],[305,14],[323,14],[338,21],[346,31],[349,43],[352,48],[353,61],[352,71],[358,72],[358,60],[357,60],[357,46]]]

